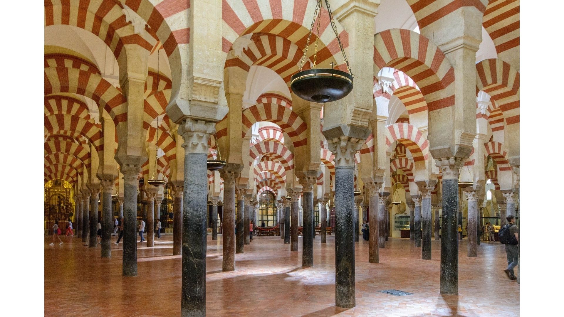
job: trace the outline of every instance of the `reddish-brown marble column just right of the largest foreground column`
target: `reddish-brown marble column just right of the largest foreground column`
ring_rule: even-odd
[[[221,171],[223,178],[223,271],[235,270],[235,180],[243,166],[227,164]]]

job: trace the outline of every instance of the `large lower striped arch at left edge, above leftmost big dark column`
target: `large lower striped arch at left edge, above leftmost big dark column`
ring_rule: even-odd
[[[73,93],[86,96],[103,107],[117,126],[127,120],[124,95],[98,74],[75,68],[45,68],[45,95]]]

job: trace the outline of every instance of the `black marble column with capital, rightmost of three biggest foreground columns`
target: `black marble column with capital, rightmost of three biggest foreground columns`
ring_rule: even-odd
[[[442,157],[435,163],[442,173],[443,222],[440,239],[440,293],[458,294],[458,178],[462,162],[458,157]]]

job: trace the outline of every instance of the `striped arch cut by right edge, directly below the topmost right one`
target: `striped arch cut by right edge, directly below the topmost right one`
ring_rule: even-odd
[[[477,93],[484,91],[499,105],[506,124],[519,122],[519,72],[500,59],[476,64]],[[491,116],[491,114],[490,114]]]

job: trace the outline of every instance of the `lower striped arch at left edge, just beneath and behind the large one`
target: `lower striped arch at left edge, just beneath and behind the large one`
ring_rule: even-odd
[[[73,131],[87,138],[96,151],[102,151],[102,131],[89,121],[71,115],[45,116],[45,138],[60,134],[62,131]]]

